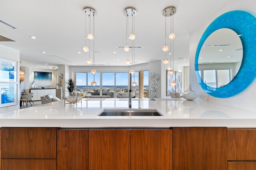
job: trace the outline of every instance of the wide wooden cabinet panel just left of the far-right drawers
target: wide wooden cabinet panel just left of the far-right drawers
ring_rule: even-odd
[[[172,129],[173,170],[226,170],[227,128]]]

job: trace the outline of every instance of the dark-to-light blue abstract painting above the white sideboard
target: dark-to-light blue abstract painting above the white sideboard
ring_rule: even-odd
[[[35,86],[52,86],[51,72],[34,71]]]

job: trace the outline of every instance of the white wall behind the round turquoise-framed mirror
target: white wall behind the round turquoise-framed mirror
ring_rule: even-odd
[[[208,25],[216,19],[218,16],[232,10],[244,10],[250,12],[252,15],[256,16],[256,5],[255,0],[246,0],[246,1],[232,1],[218,12],[214,13],[211,18],[208,18],[207,21],[204,22],[204,25],[198,25],[198,28],[194,30],[194,33],[190,35],[190,84],[194,91],[198,92],[200,95],[199,99],[206,100],[208,97],[208,102],[222,104],[226,106],[231,106],[235,108],[245,109],[248,111],[256,111],[255,96],[256,96],[256,81],[252,82],[248,88],[246,88],[240,94],[230,97],[230,98],[214,98],[212,96],[208,96],[206,92],[202,90],[199,86],[198,81],[196,79],[194,61],[196,55],[196,48],[199,43],[199,40],[204,33],[204,30],[208,27]]]

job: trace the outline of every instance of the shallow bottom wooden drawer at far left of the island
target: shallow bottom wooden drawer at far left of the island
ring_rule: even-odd
[[[56,170],[56,159],[2,159],[2,170]]]

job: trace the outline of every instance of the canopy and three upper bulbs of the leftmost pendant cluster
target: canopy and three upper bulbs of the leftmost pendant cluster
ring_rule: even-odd
[[[96,11],[93,8],[86,7],[84,8],[84,14],[85,14],[85,46],[83,48],[83,51],[85,53],[89,52],[89,59],[86,61],[87,64],[92,64],[92,59],[90,59],[90,41],[94,40],[94,16],[96,15]],[[88,17],[88,21],[86,18]],[[92,21],[93,18],[93,21]],[[87,22],[88,22],[88,30],[89,33],[87,34]],[[93,23],[92,23],[93,22]],[[92,28],[93,25],[93,28]],[[86,42],[89,41],[89,47],[86,45]]]

